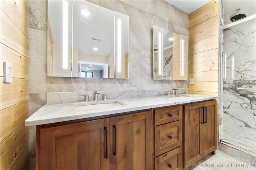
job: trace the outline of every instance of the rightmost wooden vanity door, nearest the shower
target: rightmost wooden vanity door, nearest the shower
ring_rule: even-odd
[[[204,124],[202,124],[202,143],[203,143],[203,156],[213,152],[216,148],[215,141],[217,140],[215,125],[216,117],[216,100],[203,103],[204,107]]]

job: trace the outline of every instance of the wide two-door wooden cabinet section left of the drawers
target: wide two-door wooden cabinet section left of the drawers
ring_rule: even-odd
[[[37,170],[152,169],[152,111],[36,127]]]

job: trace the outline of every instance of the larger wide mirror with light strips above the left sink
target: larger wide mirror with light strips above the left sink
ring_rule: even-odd
[[[129,16],[86,0],[48,0],[48,76],[128,78]]]

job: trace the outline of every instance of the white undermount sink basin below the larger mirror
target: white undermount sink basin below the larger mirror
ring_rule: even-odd
[[[93,102],[80,102],[75,103],[76,110],[88,110],[88,109],[98,109],[104,107],[117,107],[127,105],[118,100],[102,100],[102,101],[93,101]]]

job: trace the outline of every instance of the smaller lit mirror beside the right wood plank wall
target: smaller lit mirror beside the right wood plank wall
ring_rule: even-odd
[[[188,37],[153,29],[153,79],[188,80]]]

